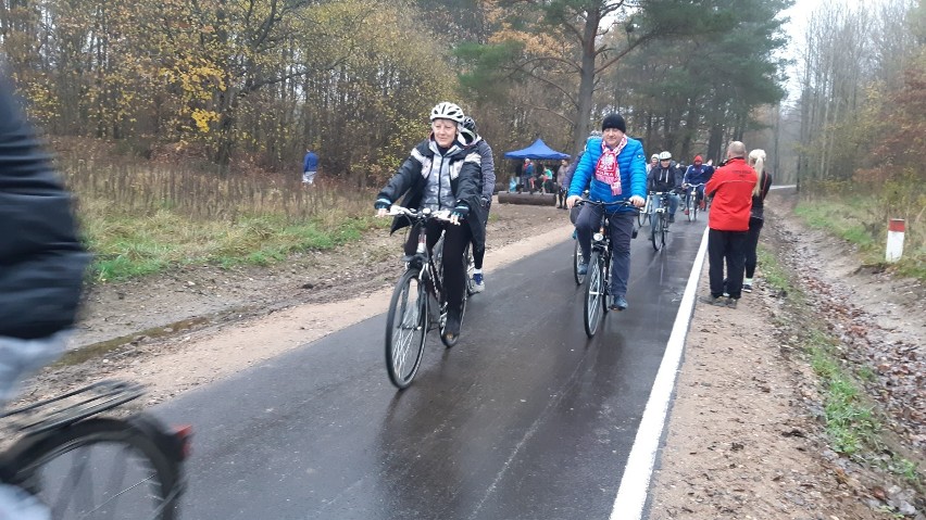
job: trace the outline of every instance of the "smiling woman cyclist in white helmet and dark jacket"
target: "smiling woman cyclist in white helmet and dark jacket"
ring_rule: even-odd
[[[392,202],[403,194],[402,205],[410,208],[433,211],[450,210],[451,225],[429,220],[427,246],[433,248],[443,237],[443,276],[447,288],[447,325],[443,334],[455,340],[460,334],[463,291],[466,277],[463,250],[471,240],[485,243],[483,223],[487,207],[480,204],[480,157],[475,150],[467,149],[461,136],[464,119],[460,106],[438,103],[430,111],[430,136],[412,149],[409,158],[389,179],[376,198],[374,207],[377,216],[385,216]],[[391,231],[404,226],[408,220],[400,216],[392,221]],[[405,254],[412,256],[418,242],[418,233],[412,230],[405,242]]]

